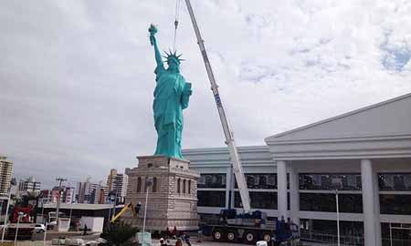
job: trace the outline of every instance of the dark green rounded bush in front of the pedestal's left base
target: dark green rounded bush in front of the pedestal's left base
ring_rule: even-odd
[[[130,239],[139,230],[132,225],[124,222],[110,223],[110,225],[101,234],[101,238],[107,240],[104,246],[129,246],[132,245]]]

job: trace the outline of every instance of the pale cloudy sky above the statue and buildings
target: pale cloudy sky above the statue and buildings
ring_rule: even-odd
[[[411,1],[192,1],[238,146],[411,92]],[[3,1],[0,155],[47,189],[152,155],[153,47],[176,1]],[[183,148],[224,134],[184,1],[176,48],[193,84]]]

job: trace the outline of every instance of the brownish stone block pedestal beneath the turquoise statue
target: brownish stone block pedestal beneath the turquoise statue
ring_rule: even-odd
[[[145,206],[145,180],[151,179],[148,188],[146,231],[165,231],[174,226],[178,231],[198,229],[197,179],[199,174],[189,169],[185,159],[164,156],[142,156],[138,168],[126,169],[129,185],[125,202],[133,206],[139,202],[139,217],[128,211],[122,220],[142,229]]]

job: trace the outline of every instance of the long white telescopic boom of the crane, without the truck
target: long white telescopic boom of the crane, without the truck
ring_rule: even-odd
[[[244,211],[248,213],[251,209],[249,195],[248,195],[248,187],[247,187],[246,178],[244,176],[243,168],[241,166],[241,162],[238,157],[237,147],[234,141],[233,133],[231,132],[228,126],[226,112],[223,108],[223,103],[218,93],[218,86],[216,85],[216,78],[214,77],[213,70],[211,69],[210,61],[208,60],[208,56],[205,51],[204,40],[201,37],[200,30],[198,29],[190,0],[185,0],[185,5],[187,5],[188,13],[190,15],[191,22],[193,23],[193,27],[195,29],[195,36],[197,38],[197,44],[198,46],[200,46],[200,51],[201,51],[201,55],[203,56],[205,69],[207,71],[208,79],[210,80],[211,90],[213,91],[214,99],[216,101],[216,108],[218,110],[218,115],[221,120],[221,125],[223,126],[224,135],[226,137],[226,144],[228,147],[231,161],[233,162],[233,171],[234,171],[234,175],[236,176],[237,186],[238,186],[238,190],[240,193],[241,201],[243,203],[243,208],[244,208]]]

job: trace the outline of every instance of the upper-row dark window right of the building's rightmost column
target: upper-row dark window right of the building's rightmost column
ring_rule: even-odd
[[[379,173],[380,190],[411,190],[411,173]]]

